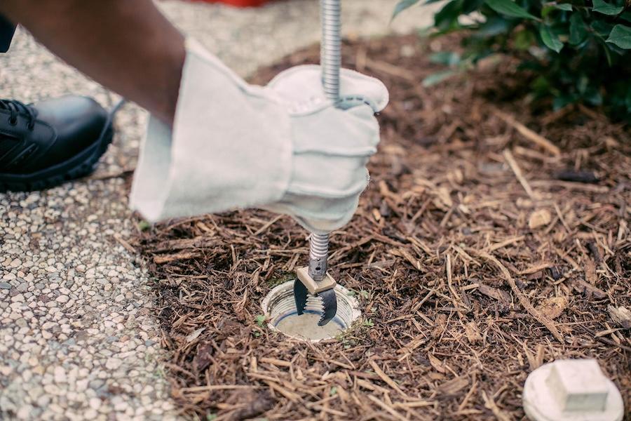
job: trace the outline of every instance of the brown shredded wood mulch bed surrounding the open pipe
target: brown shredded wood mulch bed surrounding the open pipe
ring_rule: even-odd
[[[264,295],[306,264],[290,218],[205,215],[133,241],[156,279],[184,414],[521,419],[528,373],[580,357],[598,359],[631,408],[630,326],[612,316],[631,308],[631,131],[583,107],[540,113],[508,59],[424,88],[437,42],[457,39],[344,46],[346,67],[391,92],[369,189],[331,239],[331,272],[362,307],[345,335],[311,345],[257,323]]]

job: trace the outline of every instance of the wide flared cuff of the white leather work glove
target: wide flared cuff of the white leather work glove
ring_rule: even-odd
[[[172,131],[153,116],[130,206],[149,221],[278,201],[290,182],[290,117],[192,39]]]

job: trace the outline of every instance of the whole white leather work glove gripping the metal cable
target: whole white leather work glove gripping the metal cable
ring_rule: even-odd
[[[368,182],[374,112],[388,91],[343,70],[340,97],[341,109],[325,98],[318,66],[252,86],[187,40],[173,129],[150,117],[130,206],[151,222],[255,207],[316,233],[344,226]]]

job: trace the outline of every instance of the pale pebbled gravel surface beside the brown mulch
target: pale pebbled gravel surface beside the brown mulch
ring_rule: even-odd
[[[344,1],[347,36],[408,32],[430,18],[388,26],[395,0]],[[280,1],[238,10],[161,4],[176,24],[247,75],[319,38],[318,4]],[[118,99],[18,30],[0,55],[1,97]],[[161,365],[150,282],[115,236],[135,228],[128,187],[146,114],[127,105],[114,145],[92,178],[46,192],[0,194],[0,419],[125,420],[177,417]]]

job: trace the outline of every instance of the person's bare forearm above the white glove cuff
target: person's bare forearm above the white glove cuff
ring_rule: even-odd
[[[70,65],[172,124],[184,36],[151,0],[2,0],[0,13]]]

